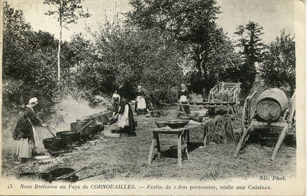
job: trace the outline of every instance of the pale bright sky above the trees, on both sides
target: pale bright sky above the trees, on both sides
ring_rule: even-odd
[[[217,24],[220,25],[230,38],[240,24],[246,24],[249,20],[256,21],[264,28],[262,39],[270,42],[280,35],[282,29],[286,33],[294,31],[294,3],[298,0],[217,0],[222,13],[218,15]],[[46,10],[52,9],[43,5],[43,1],[8,1],[15,9],[24,10],[26,21],[31,23],[35,31],[43,30],[59,37],[58,22],[53,16],[44,15]],[[62,38],[69,40],[70,37],[82,32],[85,34],[85,24],[97,30],[97,22],[103,22],[105,16],[114,17],[117,12],[127,12],[131,9],[128,1],[85,0],[83,8],[89,8],[92,16],[78,20],[77,24],[71,24],[69,30],[63,30]]]

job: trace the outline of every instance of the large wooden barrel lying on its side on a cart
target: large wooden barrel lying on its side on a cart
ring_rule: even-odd
[[[261,121],[278,121],[280,115],[287,109],[286,94],[278,89],[268,89],[262,92],[257,100],[257,113]]]

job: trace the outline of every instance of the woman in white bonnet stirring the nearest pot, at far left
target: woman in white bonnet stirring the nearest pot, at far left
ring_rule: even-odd
[[[13,138],[18,140],[16,155],[21,162],[25,162],[32,155],[37,155],[37,134],[35,126],[46,127],[46,124],[40,124],[35,116],[33,107],[38,104],[36,97],[29,100],[26,105],[23,116],[21,116],[14,130]]]

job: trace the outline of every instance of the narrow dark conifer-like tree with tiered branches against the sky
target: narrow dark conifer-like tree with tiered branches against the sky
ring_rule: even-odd
[[[262,27],[257,22],[249,21],[246,26],[238,26],[234,33],[240,38],[236,46],[239,47],[239,54],[243,59],[243,63],[238,67],[238,80],[243,83],[244,92],[248,92],[256,78],[256,63],[261,62],[261,50],[263,47],[260,36]]]

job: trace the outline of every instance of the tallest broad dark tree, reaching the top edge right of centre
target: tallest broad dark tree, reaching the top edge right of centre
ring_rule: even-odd
[[[222,72],[233,63],[229,58],[234,48],[215,23],[220,13],[215,0],[133,0],[130,4],[133,9],[127,13],[127,23],[141,30],[159,29],[164,39],[180,44],[184,61],[192,64],[187,79],[192,91],[202,93],[205,88],[209,92],[222,80]]]

